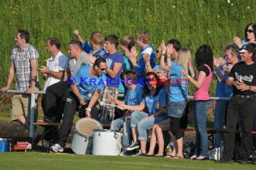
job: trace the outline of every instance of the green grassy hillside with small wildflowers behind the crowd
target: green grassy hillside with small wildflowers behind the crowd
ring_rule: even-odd
[[[1,0],[0,86],[6,84],[10,53],[20,28],[30,32],[30,43],[40,53],[39,65],[49,58],[46,39],[59,38],[61,50],[67,54],[75,29],[87,41],[93,31],[121,38],[135,37],[138,30],[145,29],[154,48],[162,39],[176,38],[193,57],[202,44],[210,45],[218,57],[234,36],[244,38],[247,24],[256,22],[255,9],[255,0]],[[44,85],[42,75],[40,82]],[[213,81],[211,96],[215,84]],[[190,88],[190,95],[193,90]]]

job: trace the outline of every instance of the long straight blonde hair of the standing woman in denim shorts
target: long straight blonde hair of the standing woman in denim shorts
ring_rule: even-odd
[[[181,65],[183,68],[189,71],[189,61],[191,59],[191,53],[186,48],[181,48],[177,57],[177,65]]]

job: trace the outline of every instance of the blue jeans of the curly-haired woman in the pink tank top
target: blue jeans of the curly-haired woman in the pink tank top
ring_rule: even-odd
[[[208,135],[206,129],[207,111],[211,101],[196,102],[194,101],[194,123],[196,130],[196,149],[194,155],[208,157]]]

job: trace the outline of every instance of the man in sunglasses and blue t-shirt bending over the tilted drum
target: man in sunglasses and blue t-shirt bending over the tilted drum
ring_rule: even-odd
[[[80,105],[85,105],[86,117],[97,119],[99,103],[97,99],[106,81],[105,72],[107,70],[106,60],[99,57],[93,66],[82,66],[75,74],[75,79],[71,85],[71,92],[66,98],[62,124],[58,132],[56,144],[51,146],[53,152],[63,152],[67,137],[73,125],[75,111]],[[88,93],[93,94],[92,98]]]

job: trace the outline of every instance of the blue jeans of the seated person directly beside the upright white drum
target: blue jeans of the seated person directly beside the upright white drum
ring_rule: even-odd
[[[125,117],[115,119],[111,122],[110,130],[118,131],[121,127],[124,128],[123,141],[122,141],[122,152],[126,151],[126,148],[130,146],[132,133],[131,133],[131,119],[125,121]]]

